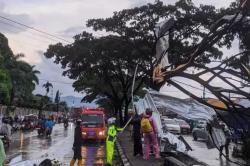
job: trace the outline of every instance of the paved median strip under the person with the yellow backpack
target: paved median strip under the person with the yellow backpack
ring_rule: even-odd
[[[129,135],[128,131],[124,131],[119,135],[118,141],[129,160],[130,164],[132,166],[159,166],[163,165],[164,160],[163,159],[154,159],[154,156],[151,156],[149,160],[143,160],[142,156],[133,156],[133,141],[131,139],[131,136]]]

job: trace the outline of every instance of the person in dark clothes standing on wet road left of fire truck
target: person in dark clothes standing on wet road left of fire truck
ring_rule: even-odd
[[[70,166],[74,166],[76,160],[78,160],[77,165],[82,166],[82,135],[81,135],[81,120],[76,121],[74,143],[73,143],[74,156],[70,161]]]

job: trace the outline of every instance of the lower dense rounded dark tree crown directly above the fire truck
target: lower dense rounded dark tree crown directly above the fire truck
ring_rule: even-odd
[[[113,103],[116,110],[121,110],[126,100],[129,104],[133,73],[139,61],[139,53],[125,40],[115,36],[94,38],[91,34],[83,33],[76,36],[76,41],[71,47],[50,46],[45,55],[52,57],[55,52],[60,56],[56,57],[55,62],[68,67],[63,74],[76,80],[73,84],[75,90],[87,94],[84,97],[85,101],[106,98]],[[139,69],[136,91],[141,88],[140,82],[144,79],[141,73]]]

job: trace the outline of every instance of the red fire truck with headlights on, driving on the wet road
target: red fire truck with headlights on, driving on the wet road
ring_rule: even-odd
[[[104,141],[106,139],[105,111],[102,108],[84,108],[81,113],[83,140]]]

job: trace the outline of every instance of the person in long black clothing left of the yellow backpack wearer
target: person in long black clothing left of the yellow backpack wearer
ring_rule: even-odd
[[[143,155],[141,142],[141,117],[137,113],[131,121],[133,125],[134,156]]]

